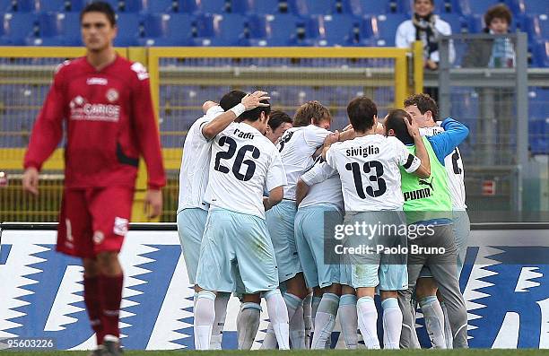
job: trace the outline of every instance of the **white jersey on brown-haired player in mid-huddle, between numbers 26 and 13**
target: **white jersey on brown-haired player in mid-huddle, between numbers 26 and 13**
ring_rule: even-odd
[[[282,157],[288,185],[284,187],[284,199],[295,200],[295,187],[301,174],[312,166],[312,155],[324,144],[330,134],[325,128],[309,125],[286,130],[277,144]]]

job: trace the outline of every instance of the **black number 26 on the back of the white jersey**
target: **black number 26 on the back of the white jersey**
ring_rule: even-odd
[[[213,166],[213,169],[220,171],[222,173],[229,173],[231,169],[228,169],[227,167],[223,166],[221,163],[222,160],[230,160],[232,156],[234,156],[234,153],[236,152],[237,143],[234,141],[231,137],[222,136],[222,138],[219,139],[219,145],[220,147],[223,147],[224,145],[229,145],[229,150],[227,152],[217,152],[215,155],[215,165]],[[256,162],[251,160],[244,160],[244,156],[246,155],[246,152],[251,152],[252,158],[258,159],[259,158],[259,150],[257,150],[256,146],[252,146],[251,144],[247,144],[245,146],[240,147],[239,152],[237,152],[237,157],[234,160],[234,164],[232,165],[232,174],[234,174],[234,177],[236,177],[239,180],[247,181],[254,177],[254,173],[256,172]],[[242,168],[242,164],[245,164],[247,166],[246,173],[242,174],[240,173],[240,169]]]

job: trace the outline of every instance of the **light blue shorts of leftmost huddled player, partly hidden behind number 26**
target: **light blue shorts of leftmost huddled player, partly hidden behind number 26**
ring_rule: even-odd
[[[179,242],[187,265],[188,282],[196,283],[196,269],[200,256],[200,243],[208,212],[200,208],[183,209],[178,213]]]

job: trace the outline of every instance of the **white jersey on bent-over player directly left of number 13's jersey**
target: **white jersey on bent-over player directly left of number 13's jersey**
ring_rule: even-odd
[[[332,204],[340,210],[344,210],[339,174],[326,162],[317,161],[311,169],[303,173],[301,179],[310,188],[307,196],[301,201],[300,208],[318,204]]]

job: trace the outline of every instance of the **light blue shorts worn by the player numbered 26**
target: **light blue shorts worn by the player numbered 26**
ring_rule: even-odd
[[[196,284],[207,291],[235,291],[235,265],[246,293],[278,288],[274,248],[265,221],[254,215],[210,209]]]

